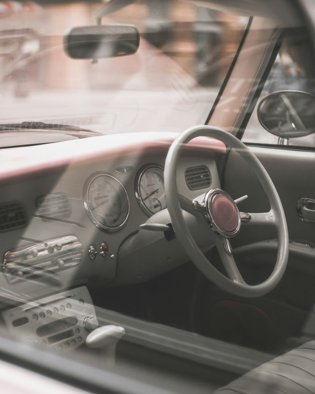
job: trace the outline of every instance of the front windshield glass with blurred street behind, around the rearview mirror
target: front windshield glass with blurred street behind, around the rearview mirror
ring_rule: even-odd
[[[63,35],[96,24],[100,2],[0,4],[0,124],[103,134],[204,124],[248,23],[189,2],[138,1],[102,19],[137,26],[137,53],[91,63],[69,58]]]

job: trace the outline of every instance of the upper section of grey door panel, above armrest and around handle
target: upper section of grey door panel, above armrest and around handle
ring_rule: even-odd
[[[269,173],[276,187],[289,229],[290,240],[306,240],[315,243],[315,222],[302,221],[296,212],[296,204],[301,197],[315,199],[315,152],[293,151],[251,147]],[[224,190],[233,198],[248,195],[239,204],[240,211],[266,212],[269,202],[258,178],[248,164],[231,151],[226,162]],[[239,236],[233,240],[234,247],[267,238],[275,238],[271,228],[250,227],[243,225]],[[315,262],[314,262],[315,267]]]

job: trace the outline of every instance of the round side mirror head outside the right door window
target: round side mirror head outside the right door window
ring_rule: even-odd
[[[315,132],[315,96],[300,91],[278,91],[261,100],[258,120],[280,138],[304,137]]]

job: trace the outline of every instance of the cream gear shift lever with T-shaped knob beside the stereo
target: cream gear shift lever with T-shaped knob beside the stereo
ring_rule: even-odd
[[[115,365],[116,345],[124,334],[124,327],[104,325],[91,332],[85,343],[89,348],[100,349],[101,364],[108,368]]]

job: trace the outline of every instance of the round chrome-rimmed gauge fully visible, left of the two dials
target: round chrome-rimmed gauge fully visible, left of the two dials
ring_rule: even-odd
[[[91,221],[104,231],[119,230],[129,215],[129,199],[124,186],[111,175],[96,173],[83,190],[85,210]]]

